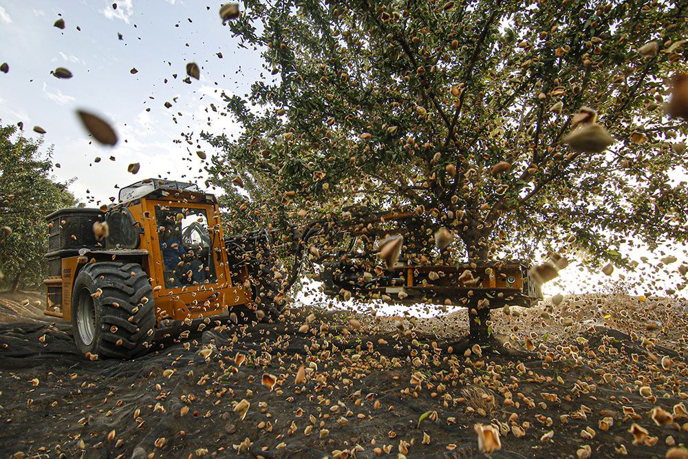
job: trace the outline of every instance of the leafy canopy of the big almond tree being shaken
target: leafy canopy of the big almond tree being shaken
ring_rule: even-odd
[[[222,150],[213,182],[231,222],[402,207],[430,241],[449,228],[455,257],[544,247],[623,263],[626,243],[685,242],[688,194],[671,173],[688,125],[665,105],[687,70],[686,10],[248,0],[229,27],[273,78],[226,98],[244,132],[206,134]]]

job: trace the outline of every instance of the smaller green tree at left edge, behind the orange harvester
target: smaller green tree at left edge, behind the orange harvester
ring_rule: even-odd
[[[50,149],[25,138],[16,126],[0,126],[0,286],[40,286],[47,263],[45,216],[76,200],[51,177]]]

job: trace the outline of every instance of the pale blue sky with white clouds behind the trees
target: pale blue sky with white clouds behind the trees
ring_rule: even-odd
[[[196,181],[203,176],[202,161],[195,154],[199,148],[180,142],[180,134],[193,132],[198,138],[204,129],[238,134],[241,127],[213,111],[211,104],[224,106],[222,92],[246,94],[264,72],[259,52],[239,47],[222,25],[221,3],[125,0],[117,1],[115,9],[112,0],[0,0],[0,63],[10,67],[8,74],[0,73],[0,122],[21,121],[25,135],[42,137],[46,149],[54,146],[54,162],[61,166],[55,169],[56,178],[76,179],[69,189],[89,206],[116,197],[116,184],[126,186],[158,175]],[[60,18],[64,30],[53,26]],[[197,63],[201,72],[200,81],[192,79],[191,84],[182,81],[189,62]],[[56,67],[66,67],[73,78],[55,78],[50,72]],[[166,108],[166,102],[172,107]],[[104,147],[92,142],[76,109],[109,120],[118,144]],[[36,125],[47,134],[35,134]],[[207,145],[200,149],[208,158],[216,153]],[[94,162],[96,157],[100,162]],[[127,171],[133,162],[140,163],[136,175]],[[634,258],[641,256],[649,257],[652,265],[662,255],[636,250]],[[605,277],[574,265],[544,290],[546,295],[599,290],[600,284],[609,287],[622,275],[616,270]],[[647,277],[630,277],[643,276]],[[652,281],[657,280],[653,275]],[[660,293],[677,281],[676,274],[659,279],[655,286],[645,279],[645,286],[632,293]]]

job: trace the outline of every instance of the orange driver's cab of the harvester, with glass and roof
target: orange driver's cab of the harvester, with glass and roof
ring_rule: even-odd
[[[147,179],[122,188],[119,198],[105,217],[107,248],[147,252],[163,318],[213,315],[223,304],[247,301],[232,285],[214,195],[191,183]]]

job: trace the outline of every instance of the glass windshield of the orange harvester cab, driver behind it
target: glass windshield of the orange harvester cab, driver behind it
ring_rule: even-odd
[[[155,206],[166,288],[215,284],[208,218],[200,209]]]

